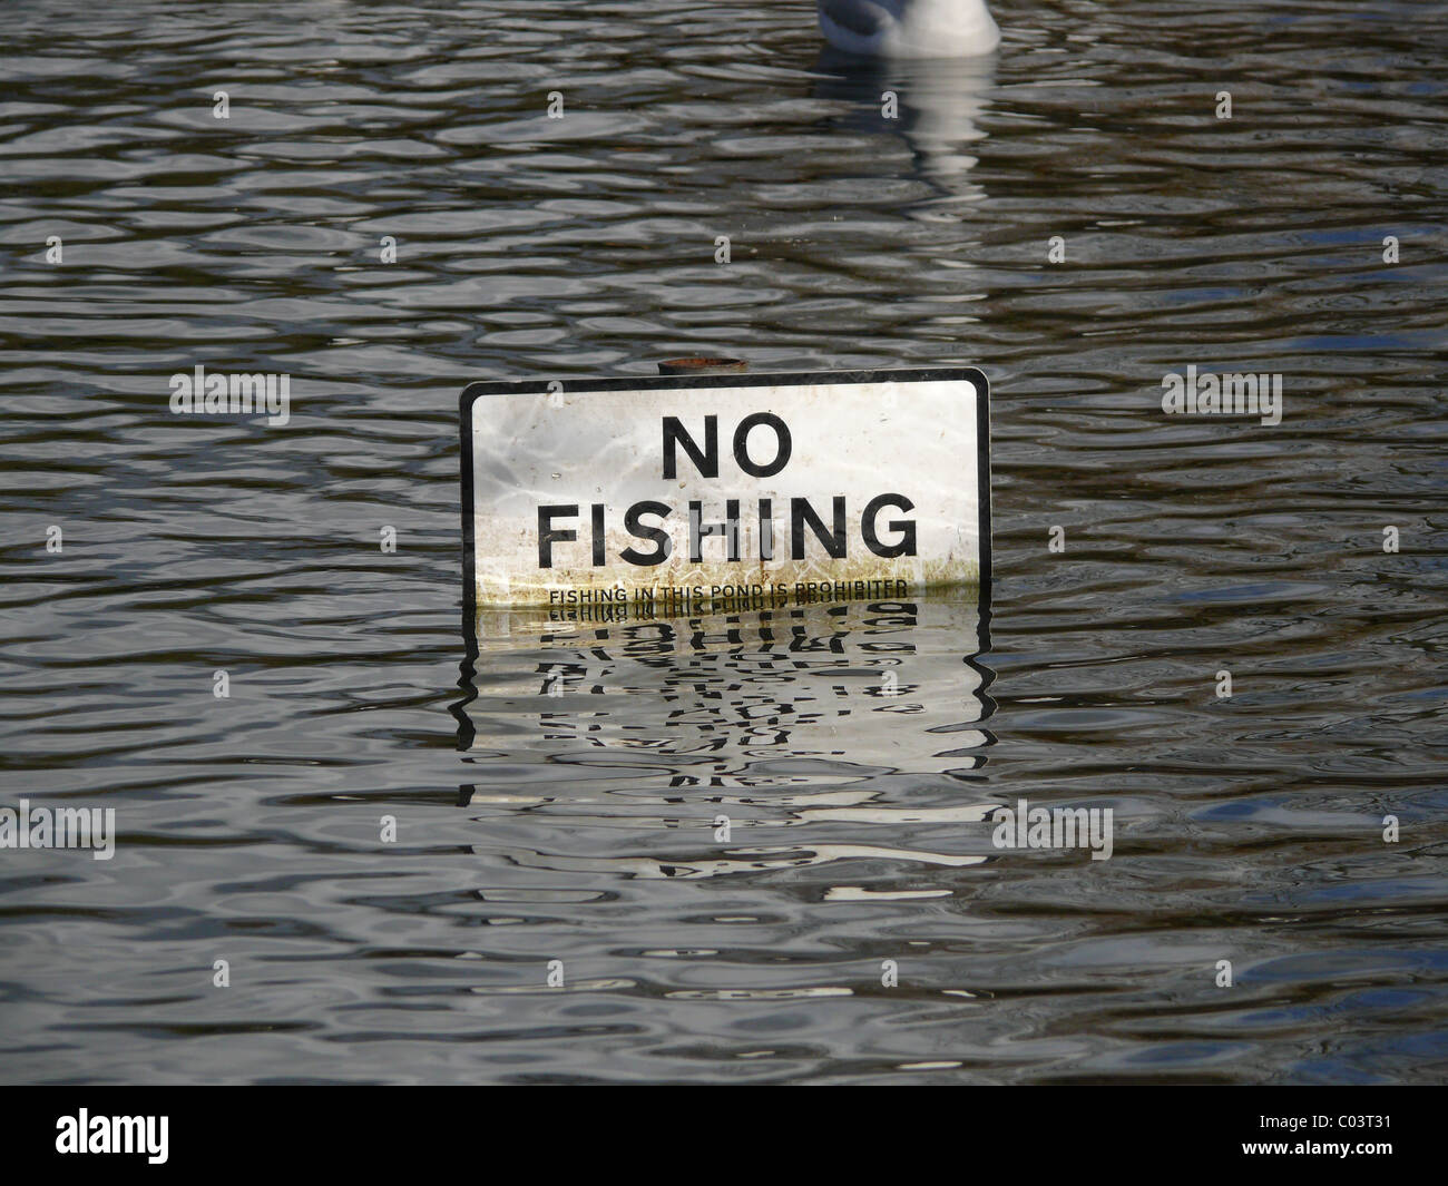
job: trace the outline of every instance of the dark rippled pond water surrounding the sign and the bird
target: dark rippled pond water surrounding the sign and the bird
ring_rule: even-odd
[[[0,850],[0,1076],[1448,1077],[1448,10],[993,7],[892,68],[805,0],[6,7],[0,804],[120,840]],[[989,608],[472,662],[462,385],[718,350],[983,368]]]

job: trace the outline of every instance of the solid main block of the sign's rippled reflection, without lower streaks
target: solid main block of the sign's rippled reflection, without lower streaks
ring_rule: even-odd
[[[979,604],[964,597],[753,598],[672,618],[628,605],[479,611],[460,747],[482,760],[627,757],[630,778],[663,788],[783,786],[825,770],[970,779],[990,740],[990,673],[976,660]]]

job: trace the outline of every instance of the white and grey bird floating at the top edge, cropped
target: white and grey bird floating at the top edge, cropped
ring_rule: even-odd
[[[973,58],[1001,43],[985,0],[815,0],[824,39],[869,58]]]

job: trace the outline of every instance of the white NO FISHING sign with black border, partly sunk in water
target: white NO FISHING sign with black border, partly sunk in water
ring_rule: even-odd
[[[668,614],[989,575],[973,368],[472,384],[460,404],[475,605]]]

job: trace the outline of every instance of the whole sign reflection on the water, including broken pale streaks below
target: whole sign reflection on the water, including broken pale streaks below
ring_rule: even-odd
[[[514,853],[529,867],[710,878],[862,859],[953,867],[986,860],[892,843],[906,825],[983,824],[996,808],[977,801],[990,673],[976,657],[985,639],[975,601],[766,595],[657,618],[640,618],[627,604],[481,610],[472,642],[458,705],[471,760],[546,763],[560,796],[573,794],[582,767],[589,791],[630,805],[715,811],[694,828],[675,823],[682,847],[669,856]],[[891,795],[891,781],[908,773],[957,779],[959,802],[925,807]],[[495,799],[462,788],[463,807],[485,801]],[[505,801],[517,808],[549,796]],[[740,846],[730,812],[759,808],[782,815],[753,820],[749,836],[869,824],[876,843]],[[983,827],[954,838],[972,831],[979,847]],[[831,886],[828,896],[851,889]]]

